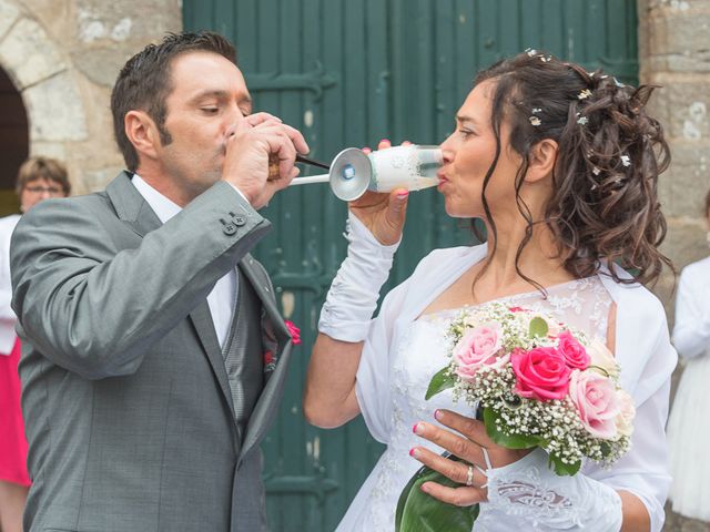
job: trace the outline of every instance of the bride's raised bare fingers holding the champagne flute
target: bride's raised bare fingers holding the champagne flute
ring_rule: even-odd
[[[389,141],[379,141],[377,150],[390,146]],[[382,245],[390,246],[402,238],[408,196],[406,188],[395,188],[390,193],[367,191],[348,206]]]

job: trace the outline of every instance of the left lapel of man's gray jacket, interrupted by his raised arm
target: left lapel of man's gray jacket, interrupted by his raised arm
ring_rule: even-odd
[[[143,198],[141,193],[138,192],[135,186],[133,186],[131,183],[131,175],[128,172],[122,172],[115,180],[109,183],[109,186],[106,186],[106,194],[109,195],[119,218],[139,236],[144,237],[151,231],[161,227],[162,224],[160,218]],[[190,319],[195,328],[195,332],[200,339],[200,344],[202,344],[207,360],[210,361],[212,371],[214,371],[217,382],[220,383],[220,389],[224,395],[224,399],[232,411],[232,419],[234,419],[234,406],[232,405],[232,395],[230,392],[226,368],[224,367],[220,341],[217,340],[217,335],[214,330],[214,324],[212,321],[212,315],[210,314],[210,306],[207,305],[206,299],[201,301],[190,313]]]

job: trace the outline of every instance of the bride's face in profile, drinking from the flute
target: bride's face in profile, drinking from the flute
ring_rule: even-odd
[[[486,218],[481,193],[484,178],[496,154],[496,136],[490,124],[495,80],[474,88],[456,115],[456,131],[442,144],[444,165],[438,174],[438,191],[444,195],[446,213],[454,217]],[[510,146],[507,120],[500,124],[500,156],[486,187],[491,214],[515,206],[515,175],[521,157]]]

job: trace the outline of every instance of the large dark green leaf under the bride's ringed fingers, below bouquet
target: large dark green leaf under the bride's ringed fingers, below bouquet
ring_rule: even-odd
[[[449,460],[460,461],[448,456]],[[395,532],[470,532],[478,516],[478,504],[456,507],[422,491],[425,482],[457,488],[453,480],[426,466],[420,468],[402,491],[395,514]]]

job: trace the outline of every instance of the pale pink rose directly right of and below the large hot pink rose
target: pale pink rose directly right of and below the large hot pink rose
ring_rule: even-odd
[[[617,416],[621,409],[611,379],[595,371],[576,369],[569,379],[569,398],[591,436],[605,440],[617,437]]]

